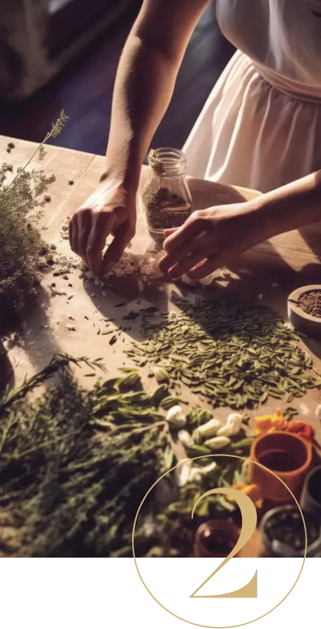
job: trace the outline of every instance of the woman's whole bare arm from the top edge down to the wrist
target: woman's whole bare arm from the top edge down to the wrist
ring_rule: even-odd
[[[113,95],[106,175],[136,189],[187,43],[208,0],[145,0],[124,46]]]

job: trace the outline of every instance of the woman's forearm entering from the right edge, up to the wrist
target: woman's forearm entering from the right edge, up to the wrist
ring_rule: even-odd
[[[251,213],[262,240],[321,221],[321,171],[257,197]]]

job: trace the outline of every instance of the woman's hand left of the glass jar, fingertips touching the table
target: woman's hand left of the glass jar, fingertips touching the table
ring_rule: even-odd
[[[136,194],[106,179],[69,222],[71,249],[82,257],[95,275],[106,275],[120,260],[136,231]],[[106,250],[107,237],[113,241]]]

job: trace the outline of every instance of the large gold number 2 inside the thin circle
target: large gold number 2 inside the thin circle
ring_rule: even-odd
[[[238,491],[237,489],[230,488],[230,487],[211,489],[207,491],[206,493],[202,494],[197,500],[197,502],[195,502],[194,504],[194,507],[192,510],[192,517],[194,516],[194,511],[197,507],[197,504],[199,504],[199,502],[201,502],[203,498],[206,498],[207,496],[213,495],[215,493],[224,493],[226,495],[231,496],[232,498],[234,498],[235,502],[238,504],[238,507],[240,507],[241,516],[242,516],[242,528],[240,532],[240,537],[238,537],[238,541],[236,542],[234,549],[229,553],[229,555],[225,559],[222,559],[222,561],[220,561],[220,563],[215,567],[214,570],[212,570],[212,572],[210,572],[210,574],[207,575],[207,577],[204,577],[201,583],[198,584],[197,587],[191,591],[190,595],[187,596],[187,598],[192,598],[192,599],[210,598],[210,599],[220,599],[220,600],[227,600],[227,599],[236,600],[240,598],[248,599],[248,600],[257,599],[257,566],[253,566],[255,570],[252,571],[252,576],[250,577],[250,579],[246,581],[245,584],[237,588],[236,590],[233,590],[231,592],[230,591],[223,592],[221,594],[202,594],[201,593],[202,588],[204,588],[208,583],[210,583],[210,581],[213,580],[213,577],[216,577],[218,572],[220,572],[220,570],[223,570],[224,566],[227,565],[229,562],[231,562],[231,560],[233,560],[233,558],[235,557],[236,553],[238,553],[238,551],[241,551],[241,549],[243,549],[243,546],[247,544],[248,540],[252,537],[253,533],[255,532],[255,528],[257,525],[257,510],[255,509],[255,505],[253,504],[252,500],[247,495],[245,495],[245,493]]]

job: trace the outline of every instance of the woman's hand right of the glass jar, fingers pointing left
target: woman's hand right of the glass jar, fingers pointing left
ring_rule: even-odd
[[[165,230],[159,269],[171,278],[204,278],[265,239],[256,223],[247,202],[196,211],[182,227]]]

